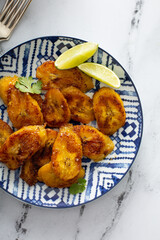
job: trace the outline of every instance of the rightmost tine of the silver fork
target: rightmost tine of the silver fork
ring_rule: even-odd
[[[21,4],[18,6],[18,8],[15,10],[15,13],[13,13],[11,19],[9,19],[7,23],[7,27],[9,27],[11,30],[15,28],[21,17],[23,16],[24,12],[26,11],[27,7],[31,3],[32,0],[22,0]]]

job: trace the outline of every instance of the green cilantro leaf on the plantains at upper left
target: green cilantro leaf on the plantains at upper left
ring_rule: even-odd
[[[32,77],[20,77],[15,84],[21,92],[40,94],[42,89],[42,82],[36,81]]]

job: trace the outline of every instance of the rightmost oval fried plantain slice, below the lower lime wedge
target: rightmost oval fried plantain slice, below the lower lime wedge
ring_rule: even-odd
[[[112,135],[124,126],[126,113],[123,101],[115,90],[103,87],[93,96],[93,109],[101,132]]]

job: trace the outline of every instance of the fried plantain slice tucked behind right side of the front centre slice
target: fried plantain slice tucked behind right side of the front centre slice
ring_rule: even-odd
[[[95,162],[104,159],[114,149],[113,141],[94,127],[77,125],[74,131],[81,138],[83,155]]]

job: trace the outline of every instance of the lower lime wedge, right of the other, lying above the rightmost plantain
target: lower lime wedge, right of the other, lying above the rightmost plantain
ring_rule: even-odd
[[[93,77],[100,82],[109,85],[110,87],[120,87],[120,80],[118,76],[104,65],[86,62],[80,64],[78,68],[90,77]]]

